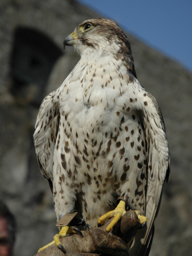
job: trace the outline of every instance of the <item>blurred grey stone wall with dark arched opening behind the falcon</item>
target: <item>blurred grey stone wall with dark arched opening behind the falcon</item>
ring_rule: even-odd
[[[75,0],[0,2],[0,198],[15,215],[15,255],[34,255],[57,232],[52,195],[37,165],[32,135],[40,103],[79,57],[65,36],[98,15]],[[137,78],[160,104],[172,154],[151,256],[190,255],[192,74],[127,34]]]

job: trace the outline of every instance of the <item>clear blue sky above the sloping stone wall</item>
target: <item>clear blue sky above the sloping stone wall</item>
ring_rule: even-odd
[[[78,0],[192,71],[191,0]]]

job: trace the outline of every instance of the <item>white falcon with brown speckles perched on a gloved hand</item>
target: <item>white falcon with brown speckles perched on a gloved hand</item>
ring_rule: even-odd
[[[73,46],[81,59],[44,98],[34,133],[57,221],[73,209],[91,226],[116,216],[106,229],[111,232],[126,207],[136,210],[147,224],[137,230],[130,254],[147,255],[169,179],[160,108],[137,80],[130,42],[116,22],[86,20],[66,37],[65,46]],[[69,230],[61,229],[57,246]]]

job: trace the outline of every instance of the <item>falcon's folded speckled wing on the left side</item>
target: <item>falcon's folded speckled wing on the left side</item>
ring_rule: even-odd
[[[34,142],[42,174],[52,179],[53,155],[59,129],[59,109],[56,91],[44,98],[35,125]]]

